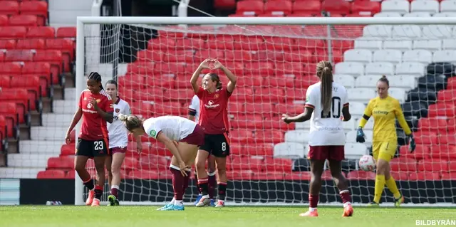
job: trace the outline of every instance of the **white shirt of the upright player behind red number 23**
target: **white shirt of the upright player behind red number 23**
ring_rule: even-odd
[[[118,120],[118,115],[131,115],[130,105],[119,97],[117,102],[113,103],[113,107],[114,120],[113,123],[108,123],[109,148],[127,147],[128,131],[123,125],[123,122]]]

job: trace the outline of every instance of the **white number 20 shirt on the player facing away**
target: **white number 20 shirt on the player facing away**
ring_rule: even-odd
[[[345,145],[345,133],[341,120],[342,107],[348,105],[347,90],[333,82],[331,112],[323,113],[321,105],[321,82],[310,85],[306,93],[306,107],[314,109],[310,120],[309,145]]]

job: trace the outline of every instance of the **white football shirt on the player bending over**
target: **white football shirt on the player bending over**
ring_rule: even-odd
[[[171,140],[179,142],[180,139],[184,139],[195,130],[197,123],[184,117],[161,116],[145,120],[142,126],[145,132],[154,139],[157,139],[158,134],[165,133]]]

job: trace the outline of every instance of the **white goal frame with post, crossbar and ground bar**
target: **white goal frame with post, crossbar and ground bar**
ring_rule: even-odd
[[[166,24],[166,25],[452,25],[456,26],[456,18],[430,17],[430,18],[413,18],[413,17],[101,17],[101,16],[78,16],[76,32],[76,102],[79,100],[79,94],[86,89],[85,73],[85,36],[84,26],[88,24]],[[95,28],[96,30],[96,28]],[[99,30],[98,30],[99,31]],[[96,31],[95,31],[96,32]],[[91,31],[93,33],[93,31]],[[95,50],[96,51],[96,50]],[[75,105],[76,107],[76,105]],[[76,126],[76,138],[81,129],[81,123]],[[83,182],[78,174],[75,174],[75,205],[85,204],[83,201]],[[160,205],[162,203],[152,202],[123,202],[123,205]],[[296,204],[227,204],[242,206],[279,206],[279,205],[296,205]],[[304,204],[300,204],[301,206]],[[336,204],[322,204],[336,205]],[[337,204],[340,206],[340,204]],[[383,203],[382,206],[392,206],[393,204]],[[456,206],[456,204],[404,204],[405,206]]]

